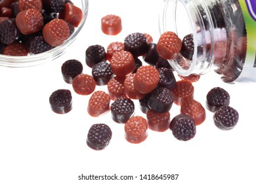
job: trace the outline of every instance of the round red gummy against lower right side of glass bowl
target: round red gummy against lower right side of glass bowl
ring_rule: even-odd
[[[62,19],[53,19],[43,27],[43,38],[51,46],[60,46],[70,36],[70,28]]]

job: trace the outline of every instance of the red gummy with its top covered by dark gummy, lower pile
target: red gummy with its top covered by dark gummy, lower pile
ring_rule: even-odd
[[[169,129],[170,112],[156,112],[154,110],[148,110],[146,113],[146,118],[148,122],[148,128],[154,131],[166,131]]]

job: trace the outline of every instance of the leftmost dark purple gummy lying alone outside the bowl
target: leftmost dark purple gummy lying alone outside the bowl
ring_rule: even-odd
[[[60,89],[54,91],[49,97],[53,112],[65,114],[72,110],[72,95],[70,90]]]

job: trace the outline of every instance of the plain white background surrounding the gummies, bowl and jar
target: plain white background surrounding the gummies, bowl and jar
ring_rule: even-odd
[[[74,2],[75,3],[75,2]],[[60,67],[67,59],[83,63],[83,73],[91,75],[85,64],[85,50],[93,44],[105,48],[123,41],[134,32],[152,35],[158,41],[158,5],[160,1],[89,1],[89,14],[82,32],[66,54],[43,65],[29,68],[0,67],[0,182],[153,182],[139,180],[145,174],[179,174],[177,180],[158,182],[255,182],[255,83],[226,84],[215,73],[203,75],[194,83],[194,99],[205,107],[207,92],[216,86],[230,93],[230,106],[240,113],[238,125],[222,131],[207,119],[197,127],[194,139],[175,139],[170,130],[148,131],[148,138],[131,144],[124,138],[124,125],[112,121],[110,112],[93,118],[87,114],[90,96],[78,95],[62,79]],[[104,35],[100,19],[116,14],[123,30],[117,36]],[[179,80],[179,77],[177,77]],[[69,89],[73,109],[55,114],[49,105],[54,90]],[[106,86],[96,90],[106,91]],[[142,114],[135,101],[135,115]],[[173,105],[171,118],[179,114]],[[108,124],[112,141],[104,150],[95,151],[86,144],[92,124]],[[131,181],[78,180],[83,175],[133,175]]]

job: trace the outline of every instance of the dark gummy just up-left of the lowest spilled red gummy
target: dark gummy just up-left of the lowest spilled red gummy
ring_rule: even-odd
[[[125,124],[135,112],[133,101],[127,97],[119,97],[111,105],[112,119],[119,123]]]

